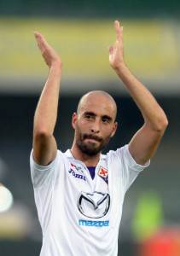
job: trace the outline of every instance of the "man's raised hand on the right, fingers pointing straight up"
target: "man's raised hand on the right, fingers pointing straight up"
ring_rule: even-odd
[[[116,41],[109,47],[109,63],[113,69],[118,69],[122,64],[125,64],[123,58],[123,26],[120,26],[119,21],[114,21],[116,31]]]

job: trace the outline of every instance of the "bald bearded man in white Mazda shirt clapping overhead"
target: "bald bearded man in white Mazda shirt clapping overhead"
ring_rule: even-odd
[[[32,183],[43,230],[41,256],[115,256],[126,190],[149,165],[167,119],[154,96],[125,66],[123,27],[114,22],[116,41],[109,62],[140,109],[144,124],[131,142],[101,154],[117,129],[116,104],[101,90],[80,99],[73,113],[74,140],[66,153],[53,136],[62,63],[44,37],[35,32],[49,77],[34,117]]]

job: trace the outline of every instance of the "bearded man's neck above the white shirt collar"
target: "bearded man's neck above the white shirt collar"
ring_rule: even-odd
[[[84,154],[79,148],[78,146],[73,143],[73,146],[71,148],[71,152],[73,154],[73,157],[76,160],[80,160],[84,163],[85,166],[96,166],[97,163],[99,162],[100,159],[100,154],[98,153],[96,155],[89,155],[89,154]]]

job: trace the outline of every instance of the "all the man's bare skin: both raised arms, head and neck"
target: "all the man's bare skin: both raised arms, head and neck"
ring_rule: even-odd
[[[114,29],[116,40],[109,47],[109,64],[123,81],[125,89],[142,113],[144,124],[131,138],[129,150],[136,163],[144,165],[155,154],[168,121],[154,96],[125,65],[123,27],[118,20],[114,21]],[[57,151],[53,133],[57,118],[62,62],[61,57],[47,43],[43,35],[35,32],[35,38],[49,67],[49,77],[35,112],[33,157],[39,165],[46,166],[55,159]],[[76,159],[82,160],[87,166],[96,166],[103,146],[113,137],[117,129],[116,111],[112,97],[104,91],[91,91],[81,98],[78,112],[73,113],[72,119],[74,139],[71,150]],[[104,122],[104,116],[110,117],[112,121]]]

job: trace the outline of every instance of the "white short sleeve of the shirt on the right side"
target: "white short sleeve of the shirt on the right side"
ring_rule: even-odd
[[[150,160],[148,160],[144,166],[137,164],[131,156],[128,145],[118,148],[115,151],[115,154],[118,156],[118,160],[120,161],[121,178],[123,179],[122,182],[126,191],[135,181],[138,174],[142,172],[144,168],[149,166]]]

